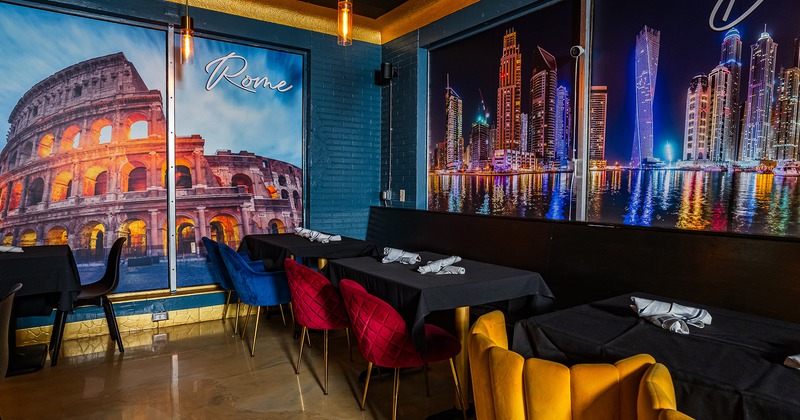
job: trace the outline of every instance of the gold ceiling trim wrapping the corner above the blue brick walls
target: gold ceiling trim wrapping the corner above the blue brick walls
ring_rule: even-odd
[[[185,0],[169,0],[185,4]],[[383,44],[479,0],[411,0],[378,19],[359,16],[358,0],[353,1],[353,39]],[[336,36],[336,10],[298,0],[190,0],[192,8],[202,8],[229,15],[242,16],[292,28]],[[195,23],[198,23],[195,21]]]

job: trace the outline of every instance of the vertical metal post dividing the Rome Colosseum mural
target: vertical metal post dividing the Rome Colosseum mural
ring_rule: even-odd
[[[167,30],[167,260],[169,290],[178,289],[175,235],[175,27]]]

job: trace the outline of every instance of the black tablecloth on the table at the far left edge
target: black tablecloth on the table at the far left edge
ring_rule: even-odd
[[[0,252],[0,290],[22,283],[16,316],[50,315],[53,308],[71,311],[81,290],[72,250],[66,245],[23,247]]]

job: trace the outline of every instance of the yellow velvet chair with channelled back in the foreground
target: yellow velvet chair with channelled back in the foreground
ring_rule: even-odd
[[[688,419],[667,368],[647,354],[571,368],[508,350],[500,311],[478,318],[469,359],[478,420]]]

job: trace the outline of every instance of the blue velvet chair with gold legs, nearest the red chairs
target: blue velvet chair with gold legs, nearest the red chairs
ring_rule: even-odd
[[[256,307],[256,325],[253,328],[253,345],[250,347],[250,356],[255,356],[256,336],[258,335],[258,320],[262,306],[273,306],[289,303],[291,308],[291,292],[286,273],[283,271],[258,272],[253,270],[244,258],[237,254],[231,247],[219,244],[219,253],[228,269],[228,274],[233,280],[233,287],[239,300],[246,305],[247,316],[242,327],[242,339],[250,321],[250,312]],[[294,325],[294,319],[292,320]]]

